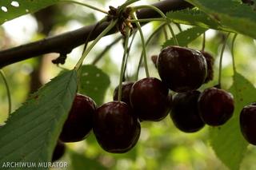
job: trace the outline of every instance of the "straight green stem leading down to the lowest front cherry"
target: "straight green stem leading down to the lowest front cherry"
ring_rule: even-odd
[[[120,77],[119,77],[119,86],[118,86],[118,101],[121,101],[122,99],[122,77],[125,73],[125,65],[126,65],[126,54],[128,49],[128,42],[130,37],[130,28],[126,26],[126,40],[125,40],[125,48],[122,55],[122,66],[120,71]]]

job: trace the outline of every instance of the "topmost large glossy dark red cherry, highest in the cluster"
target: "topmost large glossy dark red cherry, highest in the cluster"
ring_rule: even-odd
[[[159,53],[157,65],[162,82],[174,92],[198,89],[206,80],[206,59],[198,50],[168,46]]]

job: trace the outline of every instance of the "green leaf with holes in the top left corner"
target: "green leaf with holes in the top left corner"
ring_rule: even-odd
[[[0,25],[23,14],[34,13],[60,0],[2,0],[0,1]]]

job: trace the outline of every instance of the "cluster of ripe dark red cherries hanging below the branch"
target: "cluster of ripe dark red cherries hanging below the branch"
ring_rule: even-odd
[[[216,87],[202,93],[197,90],[212,80],[213,62],[214,58],[209,53],[168,46],[162,49],[156,61],[162,81],[146,77],[135,82],[123,82],[121,101],[118,101],[117,87],[114,101],[98,108],[90,97],[77,94],[59,136],[53,161],[64,153],[62,142],[84,140],[91,129],[106,152],[122,153],[138,142],[140,122],[161,121],[168,113],[182,132],[197,132],[204,125],[225,124],[234,112],[232,95]],[[175,92],[174,96],[170,90]],[[247,121],[252,120],[243,116],[242,124]]]

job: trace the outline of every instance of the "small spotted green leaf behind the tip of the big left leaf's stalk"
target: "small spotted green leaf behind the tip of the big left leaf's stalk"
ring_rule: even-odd
[[[97,105],[102,105],[110,77],[94,65],[82,65],[79,93],[91,97]]]

